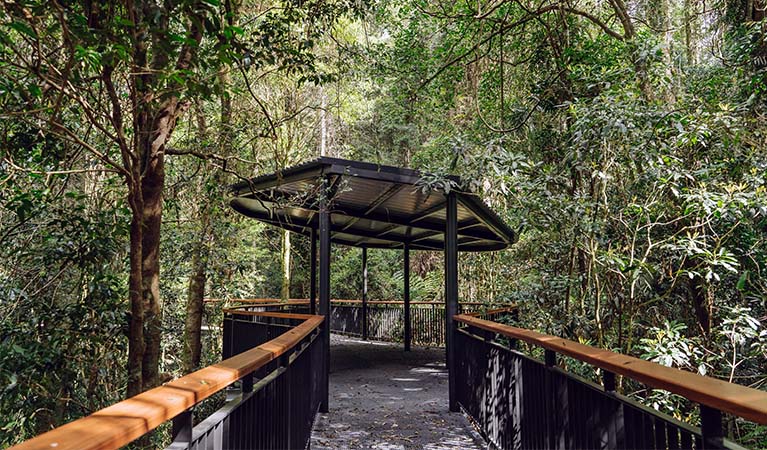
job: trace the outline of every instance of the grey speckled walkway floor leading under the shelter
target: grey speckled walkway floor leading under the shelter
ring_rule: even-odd
[[[481,449],[461,413],[448,411],[444,349],[332,336],[330,412],[319,414],[313,449]]]

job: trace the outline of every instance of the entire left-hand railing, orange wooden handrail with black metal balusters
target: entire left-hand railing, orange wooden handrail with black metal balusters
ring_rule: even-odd
[[[326,385],[320,338],[324,318],[239,311],[227,315],[230,343],[247,343],[237,348],[230,344],[231,357],[13,449],[117,449],[167,421],[173,423],[169,450],[306,448]],[[231,323],[243,315],[249,323],[233,329]],[[223,391],[224,406],[195,425],[195,406]]]

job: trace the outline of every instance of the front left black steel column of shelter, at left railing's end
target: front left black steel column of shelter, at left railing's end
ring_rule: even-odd
[[[325,316],[325,330],[322,371],[324,375],[322,386],[322,401],[320,412],[328,412],[328,394],[330,391],[330,208],[327,198],[327,179],[324,180],[323,192],[320,194],[320,314]]]

